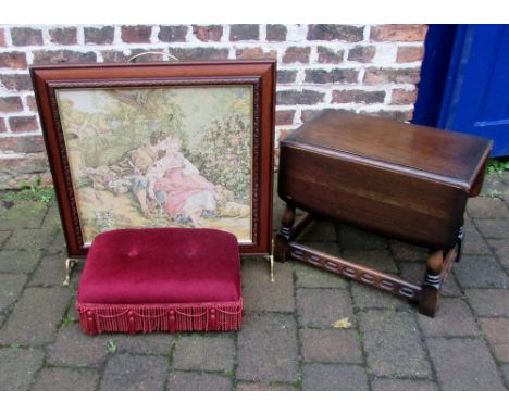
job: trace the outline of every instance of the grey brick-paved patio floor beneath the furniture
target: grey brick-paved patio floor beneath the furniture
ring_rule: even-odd
[[[80,332],[80,267],[64,278],[54,203],[0,202],[0,390],[506,390],[509,174],[469,202],[464,255],[436,318],[404,300],[297,263],[243,260],[239,332]],[[496,196],[495,198],[493,196]],[[281,203],[276,199],[274,228]],[[411,280],[425,251],[320,223],[305,239]],[[331,324],[348,317],[351,327]]]

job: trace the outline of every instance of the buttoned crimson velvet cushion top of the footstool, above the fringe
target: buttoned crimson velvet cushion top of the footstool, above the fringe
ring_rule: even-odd
[[[214,229],[120,229],[90,247],[77,300],[84,303],[237,301],[237,239]]]

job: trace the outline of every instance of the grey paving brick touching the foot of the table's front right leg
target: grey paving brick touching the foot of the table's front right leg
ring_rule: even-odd
[[[475,319],[462,299],[442,298],[434,318],[418,314],[419,325],[425,336],[476,336]]]

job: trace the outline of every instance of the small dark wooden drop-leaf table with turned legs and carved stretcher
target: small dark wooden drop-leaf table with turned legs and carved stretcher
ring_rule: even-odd
[[[467,200],[481,191],[491,147],[462,134],[321,112],[280,146],[278,194],[286,209],[274,259],[302,261],[408,298],[434,316],[440,285],[459,260]],[[294,226],[296,208],[308,214]],[[315,218],[429,248],[423,284],[299,243]]]

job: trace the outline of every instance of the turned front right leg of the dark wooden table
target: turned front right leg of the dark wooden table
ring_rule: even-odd
[[[426,276],[422,285],[419,312],[434,317],[437,311],[444,266],[444,251],[431,251],[426,262]]]

